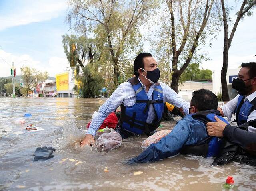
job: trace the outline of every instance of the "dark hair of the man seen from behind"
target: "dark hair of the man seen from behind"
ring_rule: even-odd
[[[192,93],[193,97],[190,101],[191,106],[195,106],[198,111],[217,109],[218,98],[210,90],[200,89]]]

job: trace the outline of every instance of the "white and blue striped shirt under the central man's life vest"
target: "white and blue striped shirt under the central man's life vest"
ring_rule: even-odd
[[[138,78],[140,81],[140,78]],[[142,84],[142,82],[140,81]],[[183,108],[185,114],[188,114],[189,103],[183,100],[173,89],[171,89],[165,83],[160,82],[160,85],[163,90],[164,102],[168,102],[177,106],[179,108]],[[148,90],[148,99],[152,99],[152,94],[154,91],[154,84]],[[146,91],[146,86],[142,84],[142,87]],[[102,125],[105,118],[111,113],[114,112],[121,104],[124,104],[126,107],[133,106],[136,102],[135,91],[132,88],[130,82],[124,82],[120,84],[117,89],[112,93],[112,95],[106,100],[106,102],[100,106],[98,113],[92,119],[92,122],[89,126],[89,130],[87,134],[96,135],[96,131]],[[153,104],[150,104],[148,111],[148,118],[146,120],[147,123],[152,123],[152,121],[156,118],[156,114],[154,112]]]

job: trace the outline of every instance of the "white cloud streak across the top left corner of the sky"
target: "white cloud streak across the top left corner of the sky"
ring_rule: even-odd
[[[0,15],[0,31],[13,26],[51,20],[58,17],[66,8],[67,4],[64,0],[37,0],[32,3],[24,1],[18,9]]]

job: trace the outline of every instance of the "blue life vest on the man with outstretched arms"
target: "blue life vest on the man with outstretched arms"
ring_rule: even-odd
[[[134,134],[142,134],[145,132],[150,136],[158,128],[164,112],[164,96],[160,83],[156,83],[152,94],[152,100],[148,100],[146,91],[138,80],[138,77],[133,77],[128,80],[136,95],[136,102],[133,106],[126,107],[121,105],[121,114],[119,126],[128,132]],[[146,123],[148,118],[149,104],[153,104],[156,119],[151,124]]]

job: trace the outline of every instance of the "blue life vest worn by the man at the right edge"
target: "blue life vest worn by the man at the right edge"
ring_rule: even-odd
[[[238,97],[235,109],[237,126],[246,123],[248,116],[256,109],[256,98],[251,102],[249,102],[249,100],[244,101],[244,98],[245,97],[242,95]]]

